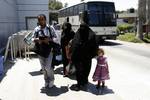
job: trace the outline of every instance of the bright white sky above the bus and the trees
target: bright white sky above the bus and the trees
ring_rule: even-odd
[[[68,6],[79,3],[81,0],[59,0],[63,4],[68,3]],[[85,0],[85,1],[93,1],[93,0]],[[100,0],[101,1],[101,0]],[[137,9],[138,0],[102,0],[102,1],[113,1],[115,2],[116,10],[127,10],[129,8]]]

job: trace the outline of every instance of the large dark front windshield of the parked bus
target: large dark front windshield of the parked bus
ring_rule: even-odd
[[[116,26],[114,3],[90,2],[87,7],[90,26]]]

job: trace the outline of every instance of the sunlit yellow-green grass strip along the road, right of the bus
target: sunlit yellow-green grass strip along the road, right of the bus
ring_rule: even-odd
[[[122,40],[122,41],[127,41],[127,42],[134,42],[134,43],[143,43],[142,40],[137,39],[135,37],[134,33],[126,33],[124,35],[119,35],[117,39]]]

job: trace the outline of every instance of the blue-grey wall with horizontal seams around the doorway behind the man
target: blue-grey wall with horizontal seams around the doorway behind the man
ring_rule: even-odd
[[[38,14],[45,14],[49,22],[49,0],[17,0],[19,30],[27,29],[27,18],[35,18]]]

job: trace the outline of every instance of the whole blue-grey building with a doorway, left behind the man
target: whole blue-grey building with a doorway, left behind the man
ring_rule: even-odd
[[[0,53],[10,35],[37,25],[38,14],[45,14],[49,22],[48,3],[49,0],[0,0]]]

